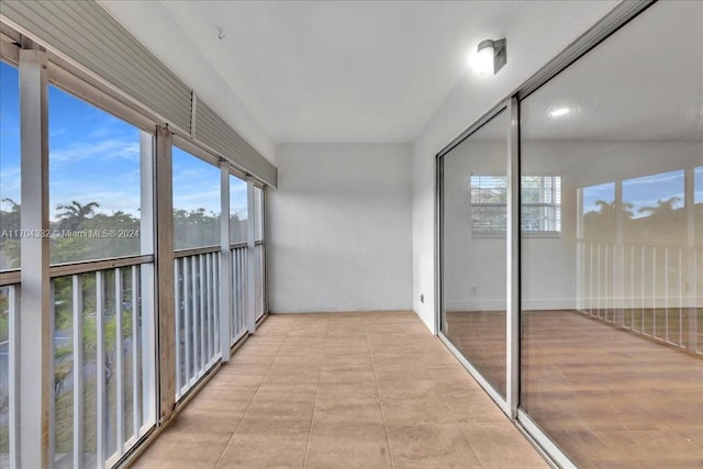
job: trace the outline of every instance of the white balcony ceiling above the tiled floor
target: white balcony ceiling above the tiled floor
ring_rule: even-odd
[[[504,34],[524,7],[515,1],[159,2],[176,31],[159,27],[156,18],[134,25],[121,18],[119,5],[103,4],[147,46],[186,36],[275,142],[413,141],[465,72],[471,47]],[[198,91],[208,85],[193,86]]]

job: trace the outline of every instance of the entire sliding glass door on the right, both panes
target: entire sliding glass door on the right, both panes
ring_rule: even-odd
[[[618,8],[439,154],[440,335],[557,465],[701,467],[703,3]]]

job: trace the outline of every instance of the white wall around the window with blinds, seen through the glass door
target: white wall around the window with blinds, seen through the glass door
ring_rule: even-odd
[[[503,114],[491,125],[507,126]],[[476,134],[475,136],[479,136]],[[505,236],[471,230],[471,174],[505,176],[506,141],[468,138],[445,156],[445,301],[449,311],[505,309]],[[562,176],[561,232],[522,239],[522,295],[526,309],[573,309],[576,298],[577,198],[573,177],[560,165],[565,145],[526,145],[524,174]],[[572,164],[571,160],[566,160]]]

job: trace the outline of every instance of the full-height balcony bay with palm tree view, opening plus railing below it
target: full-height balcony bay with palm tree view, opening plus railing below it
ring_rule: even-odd
[[[152,224],[150,215],[142,217],[150,209],[142,167],[150,164],[152,142],[137,126],[49,85],[51,264],[153,253],[149,236],[141,235]],[[52,276],[53,467],[97,459],[110,467],[154,423],[149,264]]]

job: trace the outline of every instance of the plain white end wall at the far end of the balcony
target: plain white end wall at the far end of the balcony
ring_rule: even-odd
[[[271,312],[410,310],[410,145],[282,144],[277,160]]]

